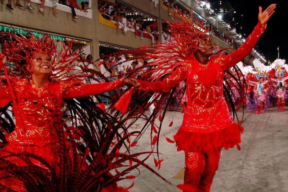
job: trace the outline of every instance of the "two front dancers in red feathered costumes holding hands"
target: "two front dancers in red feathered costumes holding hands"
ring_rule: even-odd
[[[1,67],[5,72],[3,78],[5,80],[1,87],[3,93],[0,96],[1,104],[7,106],[13,101],[13,111],[16,117],[15,130],[7,129],[12,122],[1,123],[1,129],[4,130],[1,140],[3,138],[5,141],[0,151],[1,189],[29,191],[34,188],[39,189],[37,188],[39,186],[45,188],[45,186],[50,186],[49,184],[55,188],[56,184],[60,184],[60,189],[57,189],[59,191],[116,191],[120,188],[116,181],[123,179],[121,176],[140,164],[157,174],[143,161],[136,158],[140,154],[128,155],[119,152],[128,134],[125,132],[125,136],[120,137],[112,128],[116,125],[124,125],[124,122],[111,125],[109,121],[118,121],[119,118],[116,116],[118,112],[115,116],[110,116],[105,113],[105,108],[101,107],[103,112],[98,110],[97,113],[90,113],[88,110],[95,110],[97,105],[93,100],[89,100],[91,105],[96,107],[87,109],[87,113],[81,116],[86,116],[86,119],[80,119],[81,122],[87,120],[88,128],[84,129],[85,125],[82,124],[76,128],[70,128],[63,123],[62,102],[63,99],[82,98],[112,91],[123,86],[125,82],[132,88],[125,92],[113,107],[123,113],[127,110],[129,115],[136,113],[135,111],[131,113],[135,106],[141,109],[143,105],[144,109],[148,109],[151,103],[158,101],[149,118],[149,123],[154,127],[156,126],[154,125],[155,118],[161,112],[162,105],[167,104],[167,99],[169,104],[176,85],[184,81],[185,88],[181,90],[183,90],[183,95],[186,95],[187,104],[182,126],[174,137],[177,149],[185,152],[184,184],[179,188],[184,191],[210,191],[213,177],[218,169],[221,149],[237,146],[240,150],[239,143],[241,143],[241,132],[243,132],[243,128],[234,122],[230,113],[233,111],[234,114],[235,108],[230,95],[232,91],[223,85],[223,80],[226,79],[224,74],[228,73],[231,67],[235,70],[239,69],[235,67],[235,64],[252,51],[265,31],[266,23],[273,15],[275,8],[276,4],[271,4],[262,12],[262,7],[259,7],[258,24],[255,29],[239,49],[228,55],[224,55],[223,50],[214,45],[205,32],[199,30],[199,23],[196,21],[183,17],[181,22],[168,23],[172,41],[145,46],[134,51],[143,58],[154,58],[152,62],[146,66],[143,65],[134,73],[127,74],[129,78],[126,80],[122,78],[115,82],[91,85],[83,85],[79,79],[76,81],[77,76],[67,73],[69,71],[67,68],[73,70],[75,67],[73,65],[75,57],[71,55],[73,52],[65,49],[61,52],[60,61],[57,60],[59,59],[55,51],[57,46],[51,39],[47,37],[37,40],[34,37],[27,39],[27,37],[1,33],[3,54],[7,56],[9,62],[16,64],[16,67],[7,70],[4,65],[6,57],[1,59]],[[136,79],[140,70],[143,70],[143,74]],[[80,76],[80,79],[82,78],[83,76]],[[235,81],[239,86],[237,90],[242,90],[244,86],[241,78],[235,78]],[[281,82],[281,79],[278,79],[278,87],[285,86]],[[261,83],[258,88],[258,90],[261,89]],[[281,92],[278,93],[281,94]],[[127,98],[130,97],[133,99],[128,105],[129,99]],[[143,98],[147,98],[146,102]],[[77,108],[81,104],[79,99],[73,106]],[[167,107],[163,116],[159,115],[161,122],[166,110]],[[82,114],[80,111],[79,114]],[[141,113],[141,110],[137,112]],[[98,113],[101,113],[101,117]],[[104,118],[106,121],[102,121],[103,126],[99,126],[104,129],[100,131],[93,129],[94,133],[91,129],[95,124],[95,118]],[[100,129],[99,127],[96,130]],[[125,127],[121,128],[127,130]],[[158,131],[154,129],[153,131],[151,129],[151,140],[154,136],[152,144],[156,141],[158,143],[161,126],[158,127]],[[143,128],[143,130],[146,129]],[[74,132],[71,134],[71,131]],[[93,153],[90,146],[96,144],[89,140],[91,132],[94,140],[106,133],[106,137],[101,137],[101,141],[95,142],[100,147],[97,150],[94,149]],[[138,134],[141,135],[143,132]],[[78,136],[83,138],[85,145],[81,145],[79,138],[79,142],[74,141]],[[111,138],[116,137],[118,143],[116,142],[116,146],[109,153],[110,145],[115,145]],[[130,149],[130,141],[128,143],[129,147],[126,145],[125,147]],[[104,147],[101,146],[104,144]],[[135,143],[132,144],[135,145]],[[134,146],[132,144],[131,146]],[[147,154],[151,153],[153,152],[147,152]],[[86,163],[86,159],[89,159],[88,154],[90,154],[89,158],[91,156],[95,158],[90,164]],[[116,160],[112,162],[114,158]],[[125,171],[119,173],[116,170],[116,175],[109,172],[117,166],[124,166],[122,162],[126,160],[129,160],[130,167],[128,165],[129,168]],[[137,164],[132,166],[132,161]],[[161,161],[157,162],[159,168],[160,163]],[[103,167],[105,169],[101,169]],[[129,179],[128,176],[126,178]],[[75,190],[74,187],[76,187]],[[53,191],[52,188],[45,188],[45,190]]]

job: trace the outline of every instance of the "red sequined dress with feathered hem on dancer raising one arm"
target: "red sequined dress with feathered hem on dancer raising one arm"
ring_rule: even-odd
[[[178,150],[217,152],[235,145],[240,149],[243,128],[234,122],[223,97],[224,71],[252,51],[265,28],[258,23],[246,42],[229,55],[215,56],[207,64],[200,64],[196,58],[187,59],[164,81],[139,81],[141,90],[166,92],[187,79],[187,108],[174,136]]]

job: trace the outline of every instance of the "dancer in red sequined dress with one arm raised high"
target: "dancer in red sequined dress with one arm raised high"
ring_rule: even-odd
[[[172,75],[163,81],[147,82],[133,78],[128,80],[129,84],[139,87],[140,90],[168,92],[179,82],[186,79],[187,108],[184,113],[183,124],[174,136],[177,149],[185,152],[185,175],[184,185],[182,186],[184,191],[210,191],[213,177],[218,169],[221,149],[223,147],[225,149],[233,148],[236,145],[240,150],[240,134],[243,128],[234,122],[223,97],[224,72],[252,51],[264,32],[266,23],[273,15],[275,8],[276,4],[271,4],[262,12],[262,7],[259,7],[258,24],[254,31],[238,50],[229,55],[214,56],[217,52],[217,46],[211,43],[208,36],[204,33],[197,34],[195,32],[190,37],[190,32],[187,32],[187,30],[192,31],[193,26],[184,28],[177,23],[173,26],[173,29],[180,32],[174,35],[173,40],[177,41],[181,38],[190,37],[192,40],[185,39],[192,42],[187,45],[185,51],[189,50],[195,43],[198,48],[190,48],[193,51],[190,52],[189,56],[183,59],[179,58],[178,62],[182,62],[177,64],[173,68]],[[194,23],[190,24],[196,26]],[[183,35],[179,35],[181,33]],[[173,43],[171,41],[170,44]],[[169,46],[167,44],[159,47],[164,49]],[[174,50],[179,51],[179,47],[183,44],[185,44],[184,40]],[[162,54],[163,57],[165,57],[165,54],[173,55],[171,53],[174,50],[169,48],[164,50],[166,52]],[[179,57],[184,54],[184,51],[179,51]],[[155,54],[152,56],[155,56]],[[169,58],[167,58],[166,63],[167,61],[169,61]],[[165,67],[162,69],[165,69]],[[143,75],[145,76],[145,74]]]

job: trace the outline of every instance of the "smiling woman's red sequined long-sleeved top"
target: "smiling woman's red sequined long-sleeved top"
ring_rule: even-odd
[[[61,120],[63,98],[96,95],[120,87],[123,83],[120,79],[89,85],[75,81],[49,81],[39,88],[28,79],[18,79],[13,83],[13,94],[18,107],[18,113],[14,113],[16,128],[8,135],[7,140],[10,143],[37,146],[58,142],[55,121]],[[1,90],[3,94],[0,95],[0,101],[11,101],[9,88],[4,87]]]

